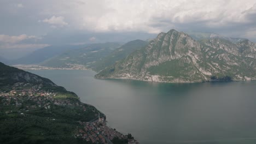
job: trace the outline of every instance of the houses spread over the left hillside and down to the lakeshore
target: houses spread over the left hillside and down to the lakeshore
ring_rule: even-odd
[[[5,115],[18,115],[26,116],[30,111],[43,109],[49,111],[54,106],[77,106],[83,112],[90,111],[96,112],[96,109],[87,104],[78,103],[71,99],[61,98],[59,94],[51,89],[44,89],[43,85],[31,85],[30,83],[18,82],[15,83],[11,89],[0,89],[0,111]],[[7,92],[8,91],[8,92]],[[11,107],[9,110],[3,109],[3,107]],[[98,112],[95,114],[95,119],[89,122],[78,121],[80,127],[75,129],[74,137],[77,139],[83,139],[88,143],[109,143],[113,144],[114,139],[127,140],[129,144],[138,144],[136,140],[131,137],[131,134],[123,135],[117,130],[109,128],[107,126],[106,116],[103,113]],[[51,118],[50,121],[56,121],[55,118]]]

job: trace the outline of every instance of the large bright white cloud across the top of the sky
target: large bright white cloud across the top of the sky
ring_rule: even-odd
[[[249,23],[252,19],[248,19],[247,10],[255,8],[255,3],[255,0],[75,0],[55,4],[45,14],[61,14],[71,20],[69,24],[74,28],[89,31],[159,33],[187,24],[201,23],[211,29]]]

